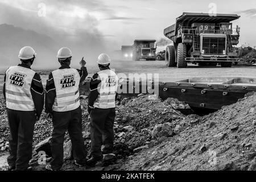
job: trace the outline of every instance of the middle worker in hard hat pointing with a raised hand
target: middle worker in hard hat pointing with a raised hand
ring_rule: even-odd
[[[57,171],[63,165],[63,143],[68,130],[73,148],[75,164],[84,166],[86,149],[82,139],[82,111],[80,106],[79,84],[84,81],[88,72],[85,60],[80,61],[81,69],[70,66],[72,52],[63,47],[57,53],[61,67],[49,74],[46,85],[46,113],[47,119],[52,119],[52,160],[46,169]]]

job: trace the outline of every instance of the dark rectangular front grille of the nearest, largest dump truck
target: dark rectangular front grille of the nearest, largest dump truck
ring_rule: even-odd
[[[226,52],[226,38],[203,38],[203,53],[223,55]]]

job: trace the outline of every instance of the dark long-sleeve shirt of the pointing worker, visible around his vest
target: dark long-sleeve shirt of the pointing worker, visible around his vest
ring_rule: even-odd
[[[68,65],[63,65],[59,69],[67,69],[70,68]],[[88,76],[88,72],[86,67],[81,67],[81,69],[77,69],[80,75],[80,82],[84,81],[86,76]],[[46,113],[52,113],[52,106],[54,104],[56,97],[56,88],[53,80],[52,73],[49,74],[49,79],[46,83]]]

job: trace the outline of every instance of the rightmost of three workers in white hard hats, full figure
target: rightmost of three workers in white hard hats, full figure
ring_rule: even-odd
[[[90,114],[91,155],[87,160],[94,166],[102,159],[102,154],[113,152],[115,100],[117,98],[118,77],[110,70],[110,57],[105,53],[98,56],[100,71],[90,81],[88,113]],[[104,148],[101,151],[101,145]]]

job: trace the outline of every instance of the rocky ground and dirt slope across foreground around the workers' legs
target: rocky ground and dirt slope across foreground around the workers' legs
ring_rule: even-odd
[[[174,98],[162,101],[140,94],[117,104],[114,154],[105,155],[94,168],[76,167],[67,134],[63,170],[255,170],[256,94],[203,117],[191,114],[187,104]],[[89,151],[87,99],[81,100],[81,105],[83,137]],[[0,111],[0,143],[6,146],[9,129],[4,102]],[[35,127],[31,160],[35,170],[44,170],[45,165],[39,165],[43,159],[46,163],[51,160],[51,130],[51,122],[43,114]]]

